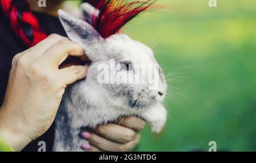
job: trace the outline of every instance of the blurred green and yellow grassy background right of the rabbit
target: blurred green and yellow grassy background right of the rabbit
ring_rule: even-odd
[[[166,128],[137,151],[256,151],[256,1],[159,0],[123,32],[150,46],[168,76]]]

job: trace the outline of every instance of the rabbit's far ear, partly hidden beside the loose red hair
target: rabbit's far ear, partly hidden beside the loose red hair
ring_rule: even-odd
[[[88,22],[89,24],[92,24],[93,17],[96,18],[98,16],[98,14],[100,14],[100,11],[98,9],[96,9],[95,7],[93,7],[92,5],[90,5],[90,3],[84,2],[81,4],[80,7],[81,7],[82,14],[84,15],[86,22]]]

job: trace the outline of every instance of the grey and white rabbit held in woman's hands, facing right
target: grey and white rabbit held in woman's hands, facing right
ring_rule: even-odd
[[[82,5],[86,16],[92,16],[95,13],[92,10],[97,10],[92,7]],[[129,78],[134,79],[137,72],[133,66],[157,64],[152,50],[125,34],[114,34],[104,39],[85,20],[63,10],[58,13],[69,39],[82,45],[92,63],[86,78],[69,86],[63,95],[55,119],[53,151],[83,151],[81,145],[85,140],[79,136],[81,129],[115,122],[125,115],[146,120],[154,133],[162,131],[167,119],[167,110],[162,105],[167,92],[162,69],[154,72],[158,77],[157,89],[149,89],[149,83],[98,82],[98,67],[102,64],[111,66],[110,60],[119,65],[110,70],[115,77],[118,73],[128,73]],[[142,78],[147,78],[147,75]]]

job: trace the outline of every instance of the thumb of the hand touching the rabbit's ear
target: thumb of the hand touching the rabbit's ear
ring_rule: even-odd
[[[65,85],[69,85],[77,80],[85,78],[88,70],[88,66],[69,66],[67,68],[60,69],[57,72],[57,78],[61,82],[65,82]]]

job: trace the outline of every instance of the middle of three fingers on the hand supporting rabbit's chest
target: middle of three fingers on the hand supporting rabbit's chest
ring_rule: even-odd
[[[106,139],[115,141],[117,143],[127,143],[136,136],[137,132],[133,129],[129,129],[117,124],[106,124],[104,126],[98,126],[93,129],[94,132],[98,133]]]

